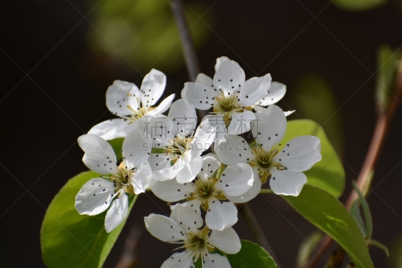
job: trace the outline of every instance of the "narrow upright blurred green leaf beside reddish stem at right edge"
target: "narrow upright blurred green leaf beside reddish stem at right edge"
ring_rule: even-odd
[[[385,111],[391,93],[400,59],[399,50],[393,50],[388,45],[382,45],[377,50],[377,85],[375,100],[378,109]]]

